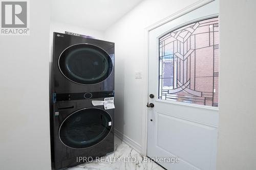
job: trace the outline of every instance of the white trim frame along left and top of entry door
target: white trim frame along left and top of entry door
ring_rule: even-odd
[[[153,25],[149,26],[149,27],[146,27],[144,29],[144,46],[143,46],[143,49],[144,49],[144,68],[143,68],[143,72],[144,72],[144,79],[143,79],[143,85],[144,85],[144,91],[143,91],[143,111],[142,111],[142,142],[141,142],[141,154],[143,155],[147,155],[147,116],[148,116],[148,108],[146,107],[146,103],[148,102],[148,57],[149,57],[149,43],[148,43],[148,40],[149,40],[149,34],[150,34],[150,31],[151,30],[154,30],[162,25],[164,25],[165,23],[169,22],[169,21],[172,21],[182,15],[185,15],[191,11],[194,11],[206,4],[209,4],[211,2],[213,2],[215,0],[200,0],[156,23],[154,23]],[[183,23],[182,23],[183,24]]]

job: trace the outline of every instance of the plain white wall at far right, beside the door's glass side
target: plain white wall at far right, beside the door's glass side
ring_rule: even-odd
[[[217,169],[256,169],[255,0],[220,1]]]

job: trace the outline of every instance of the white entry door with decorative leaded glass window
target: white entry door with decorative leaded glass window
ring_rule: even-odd
[[[147,156],[166,169],[216,169],[218,4],[149,33]]]

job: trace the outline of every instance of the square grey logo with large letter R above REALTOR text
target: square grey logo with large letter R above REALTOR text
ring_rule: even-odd
[[[2,2],[2,28],[27,28],[27,2]]]

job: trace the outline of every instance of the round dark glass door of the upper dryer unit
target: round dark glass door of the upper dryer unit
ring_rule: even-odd
[[[90,85],[104,81],[113,70],[112,59],[102,48],[76,44],[61,53],[59,69],[70,81]]]

